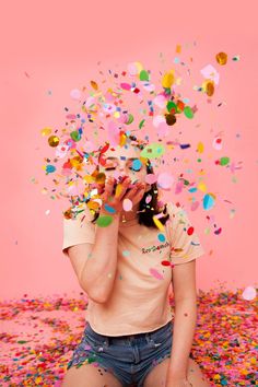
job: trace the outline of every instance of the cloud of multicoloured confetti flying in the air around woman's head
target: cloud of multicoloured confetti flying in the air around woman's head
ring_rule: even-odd
[[[56,128],[46,124],[43,127],[40,138],[54,154],[44,159],[42,169],[50,177],[49,185],[54,187],[46,188],[44,183],[40,192],[51,200],[69,201],[66,216],[69,218],[71,209],[82,202],[86,202],[92,214],[99,211],[102,202],[96,187],[106,180],[106,172],[99,173],[98,169],[105,167],[108,171],[107,150],[115,151],[117,146],[127,150],[132,143],[141,149],[139,159],[133,160],[130,166],[136,180],[138,173],[146,165],[149,168],[151,166],[152,171],[144,176],[144,181],[157,187],[157,197],[163,191],[175,196],[187,194],[189,200],[186,204],[190,211],[219,211],[223,199],[220,188],[209,179],[212,167],[223,166],[222,174],[233,174],[228,184],[239,183],[236,173],[242,169],[243,162],[233,160],[226,153],[224,131],[215,132],[216,129],[212,128],[210,134],[207,132],[204,137],[201,133],[203,122],[199,114],[199,110],[202,112],[200,104],[212,117],[219,107],[221,110],[226,105],[220,94],[223,87],[219,91],[218,85],[220,71],[227,69],[222,68],[228,61],[227,54],[218,50],[212,55],[213,63],[199,67],[202,78],[200,84],[196,84],[196,71],[191,71],[191,66],[194,61],[195,66],[198,62],[194,57],[183,61],[183,46],[177,45],[176,56],[172,60],[165,59],[162,54],[159,63],[162,68],[150,70],[146,63],[137,60],[119,70],[101,69],[98,62],[98,73],[87,81],[86,86],[71,89],[72,107],[64,107],[64,125]],[[239,60],[239,56],[234,56],[232,60]],[[185,67],[187,75],[179,67]],[[186,77],[191,80],[192,90],[187,90]],[[213,118],[212,121],[215,122]],[[188,138],[188,130],[197,128],[194,142]],[[222,149],[225,153],[218,157],[216,152]],[[195,155],[197,157],[192,160]],[[112,174],[118,178],[120,172],[115,169]],[[38,179],[33,179],[32,184],[35,186]],[[118,183],[116,197],[121,189]],[[144,197],[146,209],[153,207],[153,195]],[[131,202],[126,200],[122,209],[131,211]],[[97,221],[104,227],[112,223],[115,213],[112,207],[107,206],[105,210],[109,218]],[[234,215],[235,211],[230,213],[231,218]],[[159,216],[153,218],[153,222],[162,232],[163,224]],[[222,227],[206,227],[203,232],[218,236],[222,234]]]

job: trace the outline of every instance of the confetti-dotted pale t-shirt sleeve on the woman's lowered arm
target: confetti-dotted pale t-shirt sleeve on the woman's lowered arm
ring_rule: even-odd
[[[180,207],[167,203],[169,220],[166,222],[168,238],[171,241],[171,262],[181,265],[204,255],[204,249],[192,224]]]

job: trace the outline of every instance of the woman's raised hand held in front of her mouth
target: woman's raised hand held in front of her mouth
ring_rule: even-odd
[[[131,184],[131,179],[126,176],[121,183],[116,185],[116,179],[114,177],[108,177],[105,181],[103,190],[101,192],[102,199],[102,212],[110,214],[105,210],[105,204],[112,207],[116,213],[122,211],[122,201],[125,199],[130,199],[132,207],[140,202],[145,192],[145,183],[134,183]]]

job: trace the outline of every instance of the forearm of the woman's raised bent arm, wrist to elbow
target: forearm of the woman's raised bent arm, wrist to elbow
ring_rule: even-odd
[[[107,298],[117,270],[119,216],[107,227],[96,226],[95,244],[81,272],[80,283],[89,295]]]

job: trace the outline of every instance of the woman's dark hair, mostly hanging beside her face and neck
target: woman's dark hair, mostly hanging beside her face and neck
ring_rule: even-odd
[[[130,136],[131,140],[136,140],[133,136]],[[133,146],[137,146],[139,149],[143,149],[144,146],[142,144],[133,144]],[[153,174],[153,167],[151,165],[150,160],[146,160],[146,174]],[[151,200],[149,203],[146,203],[146,197],[151,196]],[[90,199],[86,200],[86,202]],[[164,225],[167,220],[169,219],[169,214],[167,212],[167,206],[166,203],[161,207],[159,202],[159,189],[157,185],[154,183],[151,185],[151,188],[149,191],[144,192],[140,203],[139,203],[139,212],[138,212],[138,219],[139,219],[139,224],[143,224],[146,227],[155,227],[156,225],[153,221],[153,216],[157,214],[162,214],[163,216],[159,218],[159,221]],[[97,218],[99,216],[99,212],[95,211],[94,219],[92,220],[92,223],[95,223]]]

